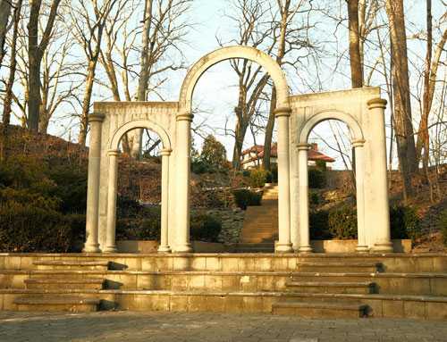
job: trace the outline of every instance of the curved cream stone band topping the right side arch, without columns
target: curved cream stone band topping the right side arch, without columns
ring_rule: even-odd
[[[316,113],[304,123],[299,131],[299,144],[307,144],[308,136],[312,129],[314,129],[318,123],[325,120],[343,121],[350,127],[350,129],[352,129],[354,140],[363,139],[363,131],[360,124],[352,115],[337,110],[330,110]]]

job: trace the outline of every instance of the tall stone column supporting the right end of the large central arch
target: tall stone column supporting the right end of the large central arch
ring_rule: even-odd
[[[291,194],[289,170],[289,119],[291,108],[274,110],[278,121],[278,221],[279,240],[275,253],[293,253],[291,246]]]

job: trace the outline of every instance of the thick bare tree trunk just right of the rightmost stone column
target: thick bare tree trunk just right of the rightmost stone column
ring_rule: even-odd
[[[404,203],[414,196],[411,179],[417,174],[417,155],[409,96],[409,66],[407,56],[407,36],[402,0],[386,0],[386,12],[390,23],[392,55],[392,88],[394,100],[394,130],[397,151],[404,184]]]

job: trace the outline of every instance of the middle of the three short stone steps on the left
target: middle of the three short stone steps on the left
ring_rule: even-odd
[[[105,279],[25,279],[26,288],[90,288],[102,289],[105,285]]]

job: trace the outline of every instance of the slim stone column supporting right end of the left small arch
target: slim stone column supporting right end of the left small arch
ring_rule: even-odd
[[[162,155],[162,232],[158,253],[171,253],[168,245],[168,189],[169,189],[169,156],[173,152],[172,149],[164,148],[160,150]]]

